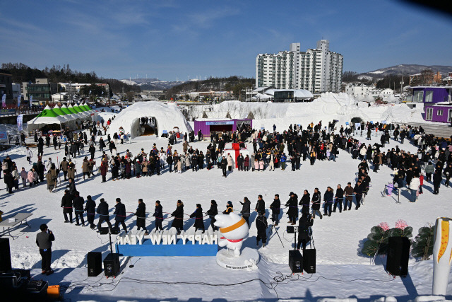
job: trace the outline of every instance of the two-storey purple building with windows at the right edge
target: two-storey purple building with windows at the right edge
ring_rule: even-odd
[[[424,103],[422,117],[429,122],[451,122],[452,86],[412,87],[412,102]]]

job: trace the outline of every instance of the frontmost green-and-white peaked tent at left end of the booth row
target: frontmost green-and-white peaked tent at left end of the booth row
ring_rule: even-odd
[[[57,112],[47,105],[42,112],[34,119],[28,122],[28,133],[40,129],[42,132],[48,132],[50,130],[60,130],[64,127],[71,129],[73,125],[73,118],[66,117],[66,115],[59,115]]]

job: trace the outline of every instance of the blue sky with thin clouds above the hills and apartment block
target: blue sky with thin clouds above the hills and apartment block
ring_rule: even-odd
[[[399,1],[2,1],[0,62],[116,79],[254,77],[256,54],[323,38],[344,71],[452,65],[451,19]]]

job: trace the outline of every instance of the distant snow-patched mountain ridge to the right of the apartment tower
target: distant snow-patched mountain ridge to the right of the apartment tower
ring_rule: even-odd
[[[401,75],[403,74],[409,76],[411,74],[419,74],[424,69],[432,69],[434,73],[439,71],[440,74],[446,75],[449,72],[452,72],[452,66],[443,66],[443,65],[417,65],[417,64],[401,64],[397,66],[391,66],[381,69],[376,69],[374,71],[364,72],[362,74],[358,74],[358,79],[383,79],[385,76],[389,75]]]

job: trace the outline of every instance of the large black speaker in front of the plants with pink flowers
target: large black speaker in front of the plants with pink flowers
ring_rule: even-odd
[[[406,237],[389,237],[386,269],[394,276],[408,275],[410,240]]]

